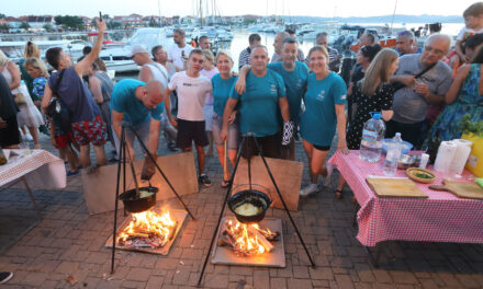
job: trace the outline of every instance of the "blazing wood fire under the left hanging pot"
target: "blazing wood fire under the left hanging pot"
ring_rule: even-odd
[[[169,211],[162,215],[154,210],[133,213],[133,220],[119,234],[120,245],[127,247],[161,247],[172,239],[176,221]]]

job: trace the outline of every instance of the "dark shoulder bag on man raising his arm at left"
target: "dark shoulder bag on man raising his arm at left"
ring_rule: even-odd
[[[70,113],[66,104],[58,95],[58,88],[63,81],[65,70],[63,70],[58,77],[55,88],[52,90],[52,101],[47,106],[47,115],[52,118],[54,125],[58,127],[64,134],[70,131]]]

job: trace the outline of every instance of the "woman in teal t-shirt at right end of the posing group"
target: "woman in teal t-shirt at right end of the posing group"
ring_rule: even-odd
[[[336,128],[337,149],[348,153],[346,143],[346,96],[344,80],[328,69],[328,53],[323,46],[314,46],[308,51],[311,73],[304,103],[305,112],[301,119],[301,135],[308,159],[311,185],[301,190],[301,196],[316,193],[318,174],[326,175],[324,167]]]

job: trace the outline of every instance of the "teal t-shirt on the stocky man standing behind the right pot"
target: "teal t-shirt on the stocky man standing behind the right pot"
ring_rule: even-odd
[[[261,78],[251,71],[246,79],[246,91],[239,95],[232,88],[229,97],[239,104],[242,134],[254,132],[256,137],[272,136],[279,131],[279,99],[285,97],[285,85],[282,77],[271,69]]]

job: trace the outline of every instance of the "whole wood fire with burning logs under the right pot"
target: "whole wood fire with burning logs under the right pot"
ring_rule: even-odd
[[[270,230],[262,230],[256,223],[245,224],[232,221],[226,223],[226,230],[233,239],[232,246],[235,252],[243,255],[263,254],[270,252],[273,246],[267,240],[267,235],[272,235]]]

